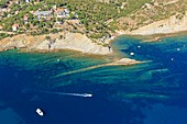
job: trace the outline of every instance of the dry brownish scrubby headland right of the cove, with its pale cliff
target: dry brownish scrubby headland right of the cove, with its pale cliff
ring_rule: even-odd
[[[150,26],[150,30],[155,30],[155,24],[158,24],[156,26],[160,26],[161,29],[162,26],[164,27],[164,25],[166,25],[165,29],[169,29],[168,27],[169,24],[165,24],[166,22],[164,21],[164,20],[169,20],[170,26],[173,26],[173,29],[175,29],[175,26],[177,26],[178,24],[180,25],[183,23],[180,26],[183,26],[184,30],[187,30],[187,26],[185,25],[185,21],[187,21],[186,11],[187,11],[186,0],[152,0],[151,2],[147,2],[144,5],[142,5],[142,8],[139,9],[136,12],[128,16],[118,19],[116,24],[118,25],[119,30],[122,30],[125,32],[127,31],[133,32],[148,24],[154,25],[154,26]],[[164,32],[164,31],[152,32],[150,34],[175,33],[177,31],[180,31],[180,29],[178,30],[173,30],[173,29],[170,29],[168,32]],[[141,31],[143,30],[140,30],[140,32]],[[138,34],[141,34],[141,33],[138,33]],[[145,33],[142,33],[142,34],[145,34]]]

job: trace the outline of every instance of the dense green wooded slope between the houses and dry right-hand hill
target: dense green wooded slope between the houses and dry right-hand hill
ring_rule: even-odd
[[[109,32],[118,30],[116,22],[110,23],[110,25],[106,24],[108,20],[128,16],[138,11],[144,3],[151,2],[151,0],[129,0],[124,9],[121,9],[120,5],[127,0],[111,1],[109,3],[98,2],[97,0],[46,0],[45,2],[57,7],[66,5],[67,9],[78,14],[88,36],[101,38]],[[70,19],[74,18],[70,14]]]

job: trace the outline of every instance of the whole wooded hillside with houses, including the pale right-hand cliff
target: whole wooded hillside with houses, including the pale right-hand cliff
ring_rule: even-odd
[[[186,0],[0,0],[0,40],[78,33],[110,48],[120,34],[180,31],[187,31]]]

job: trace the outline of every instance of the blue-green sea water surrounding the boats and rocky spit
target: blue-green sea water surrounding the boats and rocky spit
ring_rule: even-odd
[[[186,124],[186,43],[118,37],[119,56],[150,60],[134,66],[98,67],[112,58],[70,52],[0,53],[0,124]]]

